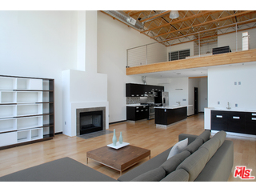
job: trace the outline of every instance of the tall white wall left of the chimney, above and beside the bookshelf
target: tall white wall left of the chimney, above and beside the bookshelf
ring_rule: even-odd
[[[76,11],[0,11],[0,74],[55,79],[62,131],[62,70],[77,64]]]

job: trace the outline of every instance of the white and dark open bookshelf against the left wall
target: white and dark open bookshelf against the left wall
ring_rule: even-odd
[[[54,79],[0,75],[0,150],[54,138]]]

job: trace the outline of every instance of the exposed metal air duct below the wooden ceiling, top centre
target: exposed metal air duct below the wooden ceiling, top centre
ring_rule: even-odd
[[[142,30],[144,22],[138,22],[122,10],[103,10],[106,14],[110,14],[112,17],[117,18],[121,22],[125,22],[128,26],[133,27],[136,30]]]

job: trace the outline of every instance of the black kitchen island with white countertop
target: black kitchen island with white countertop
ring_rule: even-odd
[[[186,119],[187,106],[156,106],[154,107],[154,112],[156,126],[166,128],[174,122]]]

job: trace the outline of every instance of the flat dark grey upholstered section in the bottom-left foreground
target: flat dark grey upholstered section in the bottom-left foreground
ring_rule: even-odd
[[[0,177],[0,182],[116,182],[116,180],[66,157],[7,174]]]

